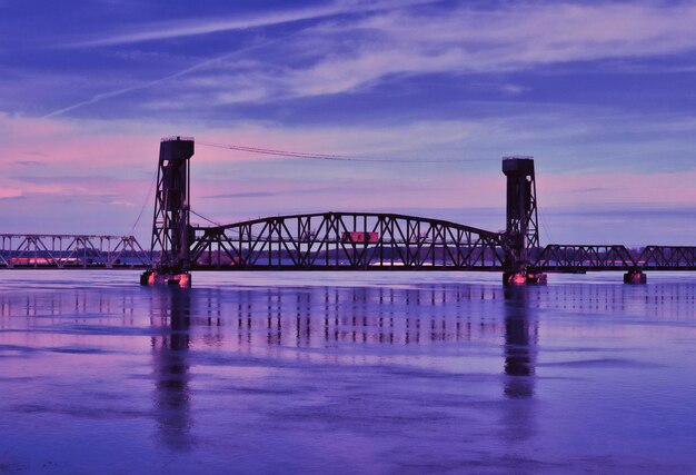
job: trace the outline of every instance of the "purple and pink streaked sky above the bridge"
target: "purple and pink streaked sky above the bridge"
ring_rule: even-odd
[[[149,245],[159,141],[180,135],[191,207],[218,222],[499,230],[500,159],[523,155],[541,244],[696,245],[695,24],[688,1],[0,0],[0,232]]]

